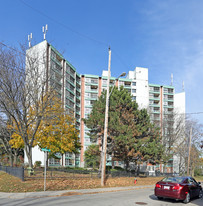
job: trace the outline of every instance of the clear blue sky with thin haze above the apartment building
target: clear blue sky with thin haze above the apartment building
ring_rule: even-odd
[[[0,0],[0,41],[47,40],[80,74],[101,75],[112,49],[112,76],[149,69],[149,82],[185,82],[186,112],[203,112],[202,0]],[[203,113],[192,117],[203,123]]]

